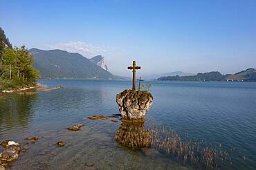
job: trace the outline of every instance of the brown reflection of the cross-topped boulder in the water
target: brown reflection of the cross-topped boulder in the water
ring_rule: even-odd
[[[116,142],[127,149],[141,149],[151,146],[152,137],[143,123],[122,122],[115,137]]]

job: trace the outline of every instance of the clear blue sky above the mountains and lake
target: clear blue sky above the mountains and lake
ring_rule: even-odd
[[[104,55],[111,73],[255,68],[256,1],[6,1],[0,27],[12,45]]]

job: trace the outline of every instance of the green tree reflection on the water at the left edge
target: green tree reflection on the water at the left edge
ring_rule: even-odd
[[[33,104],[37,99],[35,90],[0,98],[0,135],[3,131],[22,129],[33,117]]]

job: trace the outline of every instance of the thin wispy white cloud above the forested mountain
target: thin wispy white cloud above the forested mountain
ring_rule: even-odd
[[[53,45],[46,45],[51,49],[66,50],[69,53],[80,53],[84,57],[93,57],[95,55],[118,55],[125,50],[113,46],[97,46],[83,41],[70,41],[67,43],[58,43]]]

